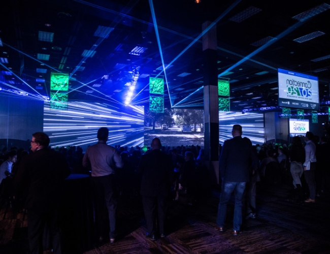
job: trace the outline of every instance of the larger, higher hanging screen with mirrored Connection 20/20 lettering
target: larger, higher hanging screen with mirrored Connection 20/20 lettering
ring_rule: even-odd
[[[280,107],[319,110],[318,78],[278,69]]]

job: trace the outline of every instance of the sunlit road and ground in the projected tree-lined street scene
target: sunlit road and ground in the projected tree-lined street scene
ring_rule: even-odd
[[[163,130],[161,125],[155,126],[155,130],[151,127],[144,128],[144,144],[150,146],[153,138],[160,139],[164,146],[181,146],[181,145],[199,145],[204,147],[204,133],[200,128],[196,127],[196,132],[182,132],[181,127],[177,125],[169,126],[168,129]]]

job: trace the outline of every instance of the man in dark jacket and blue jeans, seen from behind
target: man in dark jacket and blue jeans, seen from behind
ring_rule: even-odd
[[[242,225],[243,194],[246,182],[249,181],[249,168],[252,164],[252,145],[249,139],[242,138],[241,125],[235,124],[233,126],[232,135],[232,139],[223,143],[220,155],[222,189],[215,230],[223,231],[227,203],[234,192],[234,235],[238,235]]]

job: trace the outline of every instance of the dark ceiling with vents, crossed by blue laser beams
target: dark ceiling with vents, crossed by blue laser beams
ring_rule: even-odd
[[[0,17],[0,92],[49,97],[50,73],[63,72],[71,77],[69,101],[124,104],[135,76],[130,103],[148,105],[149,77],[160,75],[166,107],[203,108],[201,33],[202,24],[212,21],[218,75],[230,82],[230,110],[278,106],[278,68],[317,76],[320,111],[328,106],[329,1],[12,0],[6,5]],[[51,42],[39,40],[40,32],[53,33]],[[132,54],[137,46],[144,51]]]

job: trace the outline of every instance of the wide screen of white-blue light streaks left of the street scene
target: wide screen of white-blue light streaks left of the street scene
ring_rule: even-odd
[[[103,102],[69,102],[68,110],[51,110],[44,103],[44,132],[50,146],[80,146],[86,151],[97,143],[97,130],[109,129],[109,145],[144,145],[144,107],[115,107]]]

